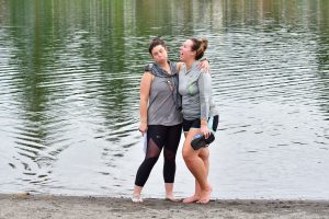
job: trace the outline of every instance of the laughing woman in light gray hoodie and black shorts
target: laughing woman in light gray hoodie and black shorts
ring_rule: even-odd
[[[209,170],[207,146],[214,140],[218,112],[212,100],[211,73],[197,68],[198,60],[203,57],[207,45],[207,39],[191,38],[185,41],[180,49],[180,59],[184,62],[179,72],[179,93],[182,95],[185,135],[182,152],[186,166],[195,177],[195,193],[183,203],[206,204],[212,193],[212,186],[207,181]],[[193,145],[195,136],[198,138]]]

